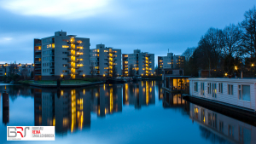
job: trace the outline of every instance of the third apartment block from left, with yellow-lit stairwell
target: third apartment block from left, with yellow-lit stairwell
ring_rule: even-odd
[[[148,76],[154,74],[154,54],[141,52],[140,49],[133,50],[133,54],[123,54],[123,76],[129,76],[129,69],[135,72],[135,75]],[[132,67],[131,67],[132,66]]]

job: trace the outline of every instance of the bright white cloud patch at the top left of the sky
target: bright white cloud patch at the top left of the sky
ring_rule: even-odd
[[[5,0],[0,7],[15,14],[76,19],[106,12],[112,0]]]

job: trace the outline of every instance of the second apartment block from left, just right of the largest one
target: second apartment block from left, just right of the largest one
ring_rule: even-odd
[[[96,49],[90,49],[90,74],[109,77],[121,75],[121,49],[96,44]]]

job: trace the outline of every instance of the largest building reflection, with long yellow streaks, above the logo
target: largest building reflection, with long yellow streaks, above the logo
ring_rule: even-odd
[[[35,89],[34,94],[35,125],[55,126],[58,134],[90,127],[90,90]]]

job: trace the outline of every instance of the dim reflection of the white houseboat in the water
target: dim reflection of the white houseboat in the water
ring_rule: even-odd
[[[190,118],[198,122],[202,136],[214,142],[256,143],[256,127],[190,103]]]

